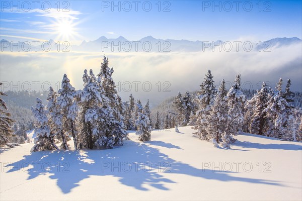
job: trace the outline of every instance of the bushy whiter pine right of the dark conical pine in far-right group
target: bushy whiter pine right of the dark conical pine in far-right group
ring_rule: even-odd
[[[277,93],[270,97],[268,107],[265,112],[267,118],[271,121],[270,127],[267,130],[267,136],[274,138],[283,138],[285,129],[283,127],[286,117],[287,102],[282,92],[282,78],[279,79],[276,89]]]

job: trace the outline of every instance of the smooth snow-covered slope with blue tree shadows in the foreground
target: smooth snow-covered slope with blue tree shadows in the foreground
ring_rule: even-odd
[[[130,133],[110,150],[3,150],[0,199],[302,199],[301,143],[244,134],[225,150],[179,130],[153,131],[147,143]]]

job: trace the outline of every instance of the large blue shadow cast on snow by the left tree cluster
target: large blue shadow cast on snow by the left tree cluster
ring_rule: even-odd
[[[169,190],[167,183],[177,183],[167,178],[168,174],[185,174],[218,181],[241,181],[249,183],[262,183],[269,185],[282,185],[277,181],[235,177],[231,172],[218,172],[211,169],[199,169],[189,164],[176,161],[168,155],[161,153],[157,148],[148,144],[167,148],[178,148],[170,143],[155,141],[149,143],[136,143],[128,141],[126,146],[108,150],[80,150],[80,151],[43,151],[32,152],[23,156],[20,161],[7,165],[9,170],[26,171],[28,180],[39,175],[49,173],[49,178],[56,179],[58,187],[63,193],[69,193],[79,182],[90,176],[100,176],[98,186],[108,185],[102,176],[112,175],[127,186],[138,190],[149,190],[147,186],[162,190]],[[108,180],[107,180],[108,182]],[[119,186],[112,186],[119,187]]]

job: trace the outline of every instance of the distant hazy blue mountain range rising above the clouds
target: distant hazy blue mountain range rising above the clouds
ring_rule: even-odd
[[[55,44],[55,41],[50,39],[48,41],[51,44],[51,50],[55,51],[58,49],[58,45]],[[297,37],[292,38],[274,38],[263,42],[251,42],[251,41],[239,41],[239,49],[242,49],[245,44],[245,49],[251,48],[254,51],[263,51],[269,50],[273,47],[287,46],[291,44],[301,43],[301,39]],[[8,40],[2,39],[0,41],[1,51],[11,51],[12,46],[14,45],[13,51],[18,51],[16,48],[17,43],[12,43]],[[156,39],[152,36],[146,36],[138,41],[130,41],[119,36],[118,38],[106,38],[101,36],[97,40],[93,41],[83,41],[80,45],[70,45],[68,50],[70,51],[84,51],[84,52],[198,52],[198,51],[207,51],[207,50],[218,50],[220,46],[221,50],[230,51],[236,49],[236,43],[233,41],[189,41],[189,40],[173,40],[173,39]],[[62,50],[64,45],[60,45],[60,50]],[[30,50],[29,50],[30,49]],[[44,45],[44,48],[41,45],[37,45],[37,48],[34,48],[34,44],[25,43],[20,48],[20,51],[41,51],[43,49],[48,49],[48,45]]]

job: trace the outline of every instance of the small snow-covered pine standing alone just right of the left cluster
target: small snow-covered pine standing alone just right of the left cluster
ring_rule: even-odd
[[[142,142],[150,141],[151,126],[145,109],[143,109],[141,112],[138,112],[138,119],[136,120],[135,124],[137,127],[136,135],[139,135],[138,140]]]

